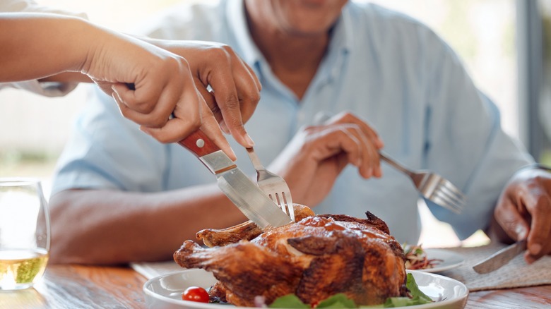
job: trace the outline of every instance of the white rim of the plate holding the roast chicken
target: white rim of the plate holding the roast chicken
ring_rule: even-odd
[[[182,308],[205,308],[205,309],[224,308],[223,307],[224,305],[216,305],[216,304],[213,304],[213,303],[196,303],[196,302],[193,302],[193,301],[178,300],[178,299],[170,298],[170,297],[167,297],[167,296],[162,296],[162,295],[160,295],[158,293],[155,293],[153,291],[150,291],[150,289],[148,289],[148,286],[150,286],[150,284],[153,284],[155,281],[160,281],[162,278],[169,277],[169,276],[180,276],[184,272],[198,272],[198,271],[206,272],[206,270],[204,270],[204,269],[184,269],[184,270],[179,271],[179,272],[173,272],[173,273],[170,273],[170,274],[162,274],[158,277],[151,278],[148,281],[146,281],[146,283],[143,284],[143,292],[146,294],[146,296],[150,296],[150,297],[155,298],[159,301],[164,301],[165,303],[170,303],[172,305],[178,305]],[[466,304],[466,298],[468,298],[469,290],[467,289],[467,286],[465,286],[465,284],[461,283],[460,281],[457,281],[457,280],[449,278],[449,277],[442,276],[440,274],[432,274],[432,273],[429,273],[429,272],[422,272],[420,270],[409,270],[408,269],[408,270],[406,270],[406,272],[413,274],[414,277],[429,276],[429,277],[432,277],[433,279],[440,279],[440,280],[444,280],[444,281],[450,281],[451,283],[456,284],[456,287],[458,287],[461,290],[462,293],[461,293],[461,295],[459,295],[456,298],[446,299],[444,301],[438,301],[438,302],[435,302],[435,303],[427,303],[427,304],[424,304],[424,305],[413,305],[413,306],[408,306],[408,307],[396,307],[396,308],[398,308],[398,309],[400,309],[400,308],[429,309],[429,308],[446,308],[446,306],[454,305],[458,302],[463,302],[463,305]],[[220,306],[220,307],[218,307],[218,306]],[[246,307],[230,307],[230,306],[227,306],[227,308],[246,308]]]

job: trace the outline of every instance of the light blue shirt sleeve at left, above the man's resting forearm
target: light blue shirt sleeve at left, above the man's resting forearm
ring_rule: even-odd
[[[167,157],[167,145],[124,119],[112,97],[96,88],[59,157],[52,195],[77,188],[157,192]]]

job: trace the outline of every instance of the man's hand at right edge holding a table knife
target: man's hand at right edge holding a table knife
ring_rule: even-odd
[[[516,173],[499,197],[494,219],[512,240],[528,240],[526,262],[550,254],[551,173],[543,169]]]

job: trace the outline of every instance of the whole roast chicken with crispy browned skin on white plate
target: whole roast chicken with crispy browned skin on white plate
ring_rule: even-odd
[[[269,304],[289,293],[309,304],[336,293],[361,305],[405,296],[403,250],[381,219],[369,212],[358,219],[314,216],[302,205],[295,210],[297,222],[263,233],[245,227],[249,222],[235,226],[235,234],[232,228],[201,231],[197,236],[215,247],[185,241],[174,260],[213,272],[218,283],[211,296],[238,306],[254,306],[255,296]]]

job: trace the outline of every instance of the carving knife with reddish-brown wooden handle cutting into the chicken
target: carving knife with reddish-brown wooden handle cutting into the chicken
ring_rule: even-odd
[[[207,166],[216,176],[218,188],[261,229],[291,222],[278,205],[245,175],[227,155],[201,131],[191,133],[178,142]]]

